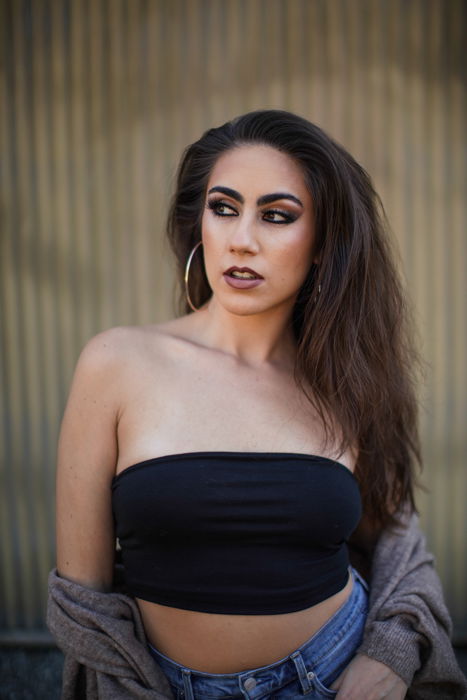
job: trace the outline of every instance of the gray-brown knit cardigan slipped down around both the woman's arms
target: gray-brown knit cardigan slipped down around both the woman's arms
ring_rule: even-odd
[[[384,530],[362,561],[371,570],[370,607],[359,653],[392,668],[409,686],[407,698],[465,699],[451,621],[416,516]],[[90,590],[53,570],[47,624],[65,654],[62,700],[173,698],[129,596]]]

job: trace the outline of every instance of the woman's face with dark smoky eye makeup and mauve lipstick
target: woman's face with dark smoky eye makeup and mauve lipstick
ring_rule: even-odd
[[[239,146],[218,159],[206,192],[202,238],[215,302],[241,315],[291,312],[314,262],[300,166],[270,146]]]

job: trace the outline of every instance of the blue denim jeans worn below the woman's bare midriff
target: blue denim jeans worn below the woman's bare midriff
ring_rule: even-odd
[[[157,649],[151,654],[169,679],[176,700],[309,700],[333,698],[329,686],[351,661],[363,636],[368,586],[352,569],[354,585],[346,602],[289,656],[269,666],[239,673],[202,673],[186,668]]]

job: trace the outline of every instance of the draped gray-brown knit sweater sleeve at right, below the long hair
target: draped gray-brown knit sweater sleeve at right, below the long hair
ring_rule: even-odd
[[[373,552],[369,612],[359,653],[389,666],[408,698],[465,698],[452,625],[434,558],[415,515],[384,530]]]

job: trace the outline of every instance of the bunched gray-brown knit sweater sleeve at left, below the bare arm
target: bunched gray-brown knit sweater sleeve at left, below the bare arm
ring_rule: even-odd
[[[65,655],[62,700],[171,700],[135,601],[49,575],[47,625]]]

